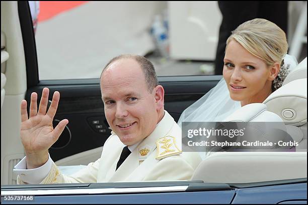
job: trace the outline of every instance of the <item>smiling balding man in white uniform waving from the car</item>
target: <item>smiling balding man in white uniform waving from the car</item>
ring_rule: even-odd
[[[144,57],[112,59],[101,75],[105,116],[112,128],[101,158],[70,176],[61,174],[48,154],[68,120],[52,128],[59,93],[46,113],[48,89],[37,112],[36,93],[21,103],[21,140],[26,157],[15,166],[18,183],[77,183],[142,180],[189,180],[201,161],[197,153],[182,153],[181,129],[164,110],[164,88]],[[126,145],[126,146],[125,146]],[[27,170],[30,169],[30,170]],[[31,170],[32,169],[32,170]],[[34,170],[33,170],[34,169]]]

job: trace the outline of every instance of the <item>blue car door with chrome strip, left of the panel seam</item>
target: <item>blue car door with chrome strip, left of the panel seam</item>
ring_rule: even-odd
[[[12,196],[23,193],[25,200],[20,201],[24,203],[229,204],[235,192],[228,184],[202,181],[6,185],[2,186],[2,202],[16,201]]]

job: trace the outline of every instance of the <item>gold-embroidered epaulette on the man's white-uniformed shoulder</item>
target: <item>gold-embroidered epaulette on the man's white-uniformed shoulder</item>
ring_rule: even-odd
[[[176,144],[176,139],[173,136],[165,136],[156,141],[157,155],[156,159],[163,159],[168,156],[178,155],[182,153]]]

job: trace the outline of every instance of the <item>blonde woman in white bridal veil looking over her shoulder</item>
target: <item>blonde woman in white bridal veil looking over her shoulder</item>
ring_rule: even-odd
[[[287,50],[285,33],[274,23],[254,19],[241,24],[226,41],[223,79],[184,110],[178,124],[219,122],[241,106],[262,103],[297,65]]]

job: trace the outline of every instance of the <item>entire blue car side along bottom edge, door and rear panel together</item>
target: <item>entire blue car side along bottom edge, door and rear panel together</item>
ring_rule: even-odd
[[[203,181],[27,184],[1,186],[2,202],[304,204],[307,178],[255,183]]]

